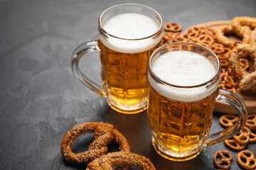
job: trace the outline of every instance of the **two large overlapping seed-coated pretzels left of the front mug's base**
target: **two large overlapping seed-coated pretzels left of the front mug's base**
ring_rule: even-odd
[[[94,140],[88,151],[75,154],[71,147],[77,137],[87,132],[94,132]],[[117,142],[120,152],[107,154],[107,145]],[[112,169],[127,170],[129,166],[138,166],[143,170],[155,170],[154,164],[149,159],[139,154],[130,152],[126,138],[109,123],[81,123],[71,128],[63,137],[60,146],[61,153],[67,162],[73,164],[87,163],[87,170]]]

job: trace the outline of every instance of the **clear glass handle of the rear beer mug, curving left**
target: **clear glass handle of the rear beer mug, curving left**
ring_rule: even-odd
[[[79,60],[87,55],[90,52],[99,52],[100,48],[98,46],[97,40],[92,40],[89,42],[85,42],[82,45],[78,46],[75,51],[73,52],[71,56],[71,66],[73,73],[75,74],[75,77],[77,77],[82,84],[85,84],[89,89],[92,91],[95,91],[97,94],[100,94],[101,96],[107,97],[107,94],[102,89],[102,86],[96,84],[92,80],[90,80],[88,77],[86,77],[82,72],[80,71],[78,67]]]

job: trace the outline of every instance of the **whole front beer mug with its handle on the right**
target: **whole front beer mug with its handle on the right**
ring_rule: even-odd
[[[162,157],[182,162],[196,157],[203,147],[238,133],[247,120],[242,99],[218,89],[220,62],[208,48],[191,42],[159,47],[149,60],[148,123],[152,145]],[[210,134],[215,101],[238,112],[238,122]]]

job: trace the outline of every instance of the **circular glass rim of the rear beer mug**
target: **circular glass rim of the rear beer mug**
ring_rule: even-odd
[[[149,36],[146,36],[144,38],[119,38],[115,35],[112,35],[110,33],[107,33],[107,31],[103,28],[102,26],[102,17],[105,15],[105,13],[107,13],[108,11],[110,11],[112,8],[117,8],[119,6],[142,6],[144,8],[149,8],[151,11],[154,11],[154,13],[156,13],[156,15],[159,17],[158,19],[160,20],[160,25],[159,25],[159,28],[156,30],[155,33],[149,35]],[[159,31],[161,31],[162,27],[163,27],[163,19],[161,18],[160,14],[154,10],[154,8],[151,8],[149,6],[145,6],[145,5],[142,5],[142,4],[136,4],[136,3],[124,3],[124,4],[117,4],[115,6],[111,6],[110,8],[107,8],[105,11],[103,11],[101,14],[100,14],[100,17],[99,17],[99,21],[98,21],[98,27],[100,29],[100,31],[102,31],[102,33],[104,33],[105,35],[108,35],[112,38],[117,38],[117,39],[120,39],[120,40],[145,40],[147,38],[151,38],[151,37],[154,37],[155,35],[159,34]]]

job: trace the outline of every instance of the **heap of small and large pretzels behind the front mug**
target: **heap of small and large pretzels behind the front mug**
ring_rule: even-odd
[[[178,23],[166,23],[164,28],[164,45],[171,42],[194,42],[215,52],[221,65],[220,89],[235,93],[239,87],[242,91],[256,92],[256,18],[235,17],[230,26],[220,26],[216,30],[192,26],[181,33],[181,25]],[[229,33],[242,40],[231,40],[226,36]],[[250,73],[248,56],[254,61],[254,71]]]

